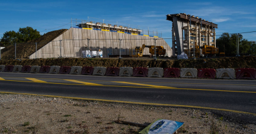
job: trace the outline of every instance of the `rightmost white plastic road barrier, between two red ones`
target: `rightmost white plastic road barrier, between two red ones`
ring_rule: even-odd
[[[235,70],[233,68],[217,68],[217,79],[235,79]]]

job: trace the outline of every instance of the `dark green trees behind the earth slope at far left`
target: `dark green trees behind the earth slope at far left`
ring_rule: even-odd
[[[40,32],[34,30],[31,27],[20,28],[18,32],[7,31],[4,33],[4,36],[1,38],[1,43],[5,46],[14,44],[14,43],[25,43],[30,40],[41,37]]]

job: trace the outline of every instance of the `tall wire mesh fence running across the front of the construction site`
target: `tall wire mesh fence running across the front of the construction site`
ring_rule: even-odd
[[[73,35],[72,35],[73,36]],[[66,38],[72,38],[66,37]],[[120,38],[119,38],[120,37]],[[126,57],[175,57],[178,53],[177,39],[159,38],[145,35],[128,37],[84,38],[77,40],[57,37],[50,42],[15,43],[1,50],[5,58],[59,58],[59,57],[97,57],[101,51],[103,58]],[[101,38],[101,39],[98,39]],[[208,40],[206,39],[208,38]],[[216,40],[215,40],[216,39]],[[193,58],[234,57],[256,55],[256,32],[216,35],[216,37],[181,38],[182,50]],[[188,45],[188,42],[190,44]],[[145,45],[143,45],[145,44]],[[210,47],[210,44],[212,47]],[[195,47],[196,46],[196,47]],[[91,52],[91,54],[89,53]],[[93,54],[92,54],[93,51]],[[163,51],[163,52],[162,52]],[[88,53],[87,53],[88,52]],[[155,56],[156,54],[156,56]]]

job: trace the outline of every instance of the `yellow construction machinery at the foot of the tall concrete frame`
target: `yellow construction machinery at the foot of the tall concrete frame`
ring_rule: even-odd
[[[195,53],[195,57],[196,58],[200,58],[200,51],[201,51],[201,54],[204,54],[206,55],[207,57],[219,57],[219,56],[224,56],[225,53],[224,52],[219,52],[219,48],[216,48],[215,46],[213,45],[203,45],[203,47],[199,47],[199,45],[195,45],[196,49],[194,51],[194,48],[191,48],[190,51],[189,50],[184,50],[184,52],[186,54],[190,53],[190,55],[194,55]],[[189,57],[189,58],[193,58],[193,56]]]

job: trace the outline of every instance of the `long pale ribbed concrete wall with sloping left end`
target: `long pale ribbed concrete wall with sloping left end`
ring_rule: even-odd
[[[90,50],[103,51],[103,58],[119,55],[120,51],[121,55],[129,55],[129,48],[142,47],[142,44],[154,45],[154,38],[157,39],[156,45],[164,46],[168,57],[171,57],[171,47],[162,38],[91,28],[70,28],[28,58],[83,57],[82,51],[88,50],[88,46]],[[143,55],[151,55],[149,48],[145,48]]]

